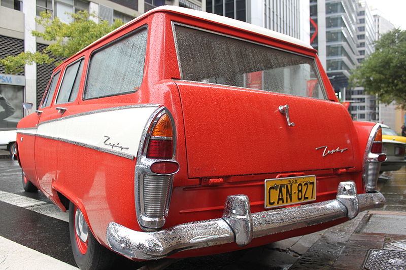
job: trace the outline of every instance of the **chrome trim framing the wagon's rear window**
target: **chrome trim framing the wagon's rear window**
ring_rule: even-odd
[[[236,36],[233,36],[233,35],[228,35],[228,34],[216,32],[216,31],[208,30],[208,29],[205,29],[205,28],[200,28],[200,27],[196,27],[196,26],[184,24],[184,23],[179,23],[179,22],[174,22],[174,21],[172,21],[171,24],[172,24],[172,33],[173,33],[173,36],[174,36],[174,43],[175,43],[175,50],[176,50],[176,58],[177,58],[177,60],[178,60],[178,68],[179,68],[179,73],[180,73],[180,77],[181,77],[181,79],[179,79],[180,81],[195,82],[195,83],[196,83],[196,81],[189,81],[189,80],[185,80],[185,79],[182,78],[182,66],[181,66],[181,62],[180,62],[180,59],[179,59],[179,53],[178,53],[178,52],[179,52],[179,48],[178,48],[178,42],[177,42],[177,37],[176,37],[176,31],[175,31],[175,26],[176,26],[176,25],[183,26],[183,27],[188,27],[188,28],[191,28],[191,29],[195,29],[195,30],[199,30],[199,31],[204,31],[204,32],[212,33],[212,34],[217,34],[217,35],[220,35],[220,36],[233,38],[234,40],[239,40],[239,41],[243,41],[243,42],[248,42],[248,43],[251,43],[251,44],[255,44],[255,45],[267,47],[267,48],[270,48],[270,49],[275,49],[275,50],[278,50],[278,51],[282,51],[282,52],[286,52],[286,53],[290,53],[290,54],[294,54],[294,55],[298,55],[298,56],[302,56],[302,57],[306,57],[306,58],[312,59],[312,60],[313,60],[313,63],[314,63],[314,66],[315,66],[315,68],[316,68],[314,71],[316,71],[317,79],[318,79],[319,85],[320,85],[320,87],[321,87],[321,92],[322,92],[322,94],[323,94],[324,99],[314,98],[314,97],[306,97],[306,96],[296,96],[296,95],[292,95],[292,96],[295,96],[295,97],[304,97],[304,98],[314,98],[314,99],[318,99],[318,100],[329,100],[329,99],[328,99],[328,96],[327,96],[327,91],[326,91],[326,88],[325,88],[325,86],[324,86],[324,82],[323,82],[323,80],[322,80],[322,78],[321,78],[321,74],[320,74],[320,71],[319,71],[319,68],[318,68],[318,65],[317,65],[317,62],[316,62],[316,58],[315,58],[315,57],[312,57],[312,56],[309,56],[309,55],[306,55],[306,54],[300,54],[300,53],[297,53],[297,52],[292,52],[292,51],[289,51],[289,50],[281,49],[281,48],[274,47],[274,46],[270,46],[270,45],[263,44],[263,43],[258,43],[258,42],[246,40],[245,38],[236,37]],[[270,37],[268,37],[268,38],[270,38]],[[275,38],[275,40],[281,41],[281,40],[278,40],[277,38]],[[284,41],[282,41],[282,42],[284,42]],[[273,92],[273,91],[267,91],[267,90],[263,90],[263,89],[253,89],[253,88],[247,88],[247,87],[230,86],[230,85],[222,85],[222,84],[214,84],[214,83],[205,83],[205,82],[197,82],[197,83],[204,83],[204,84],[211,84],[211,85],[221,85],[221,86],[228,86],[228,87],[238,87],[238,88],[242,88],[242,89],[250,89],[250,90],[258,90],[258,91],[262,91],[262,92],[279,93],[279,94],[284,94],[284,95],[291,95],[291,94],[287,94],[287,93]]]

